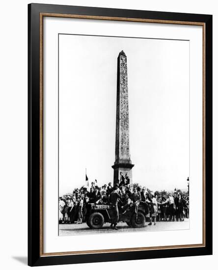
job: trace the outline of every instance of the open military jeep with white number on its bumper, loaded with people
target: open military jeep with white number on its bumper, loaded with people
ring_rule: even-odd
[[[126,222],[128,226],[133,228],[141,228],[145,226],[145,209],[142,205],[138,206],[137,212],[134,205],[130,205],[129,209],[122,213],[119,210],[119,221]],[[111,222],[112,207],[109,204],[90,203],[87,206],[86,224],[91,229],[101,229],[106,222]]]

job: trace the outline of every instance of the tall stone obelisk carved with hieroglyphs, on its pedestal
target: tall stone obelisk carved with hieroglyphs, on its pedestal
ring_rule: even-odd
[[[129,143],[129,102],[127,80],[127,57],[121,51],[117,58],[117,96],[116,96],[116,142],[113,185],[120,181],[121,175],[133,183]]]

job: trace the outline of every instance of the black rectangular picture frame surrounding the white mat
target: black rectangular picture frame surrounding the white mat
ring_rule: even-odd
[[[40,13],[205,24],[205,245],[172,249],[51,255],[40,252]],[[212,15],[28,4],[28,265],[46,266],[212,254]]]

